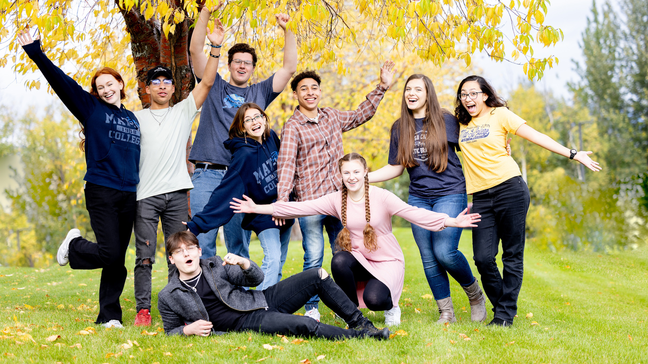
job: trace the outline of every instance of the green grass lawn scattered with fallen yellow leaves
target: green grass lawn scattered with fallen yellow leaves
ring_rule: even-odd
[[[446,327],[436,324],[439,314],[434,300],[421,297],[431,292],[410,229],[395,229],[395,234],[406,259],[406,287],[400,301],[403,323],[398,328],[406,335],[389,341],[308,339],[295,345],[284,343],[281,337],[247,333],[165,337],[159,332],[162,323],[155,309],[153,326],[146,330],[159,333],[142,334],[141,328],[132,326],[135,299],[131,249],[127,257],[129,280],[122,294],[124,330],[105,330],[93,324],[99,271],[72,271],[69,266],[0,267],[3,328],[0,361],[152,364],[299,363],[308,359],[312,363],[648,363],[646,247],[614,255],[548,253],[529,247],[525,252],[519,317],[513,327],[487,328],[471,323],[469,310],[464,309],[469,307],[468,299],[452,279],[458,321]],[[472,262],[470,231],[463,233],[459,247]],[[224,253],[224,247],[218,249]],[[262,251],[258,240],[252,243],[251,256],[260,263]],[[330,250],[324,261],[328,269]],[[301,244],[294,242],[288,252],[284,276],[301,271],[302,262]],[[154,266],[154,292],[165,284],[164,266],[159,263]],[[478,276],[474,266],[473,271]],[[156,295],[153,300],[156,302]],[[491,308],[489,303],[487,306]],[[416,313],[415,308],[421,313]],[[320,312],[324,323],[341,326],[328,308],[322,305]],[[489,313],[490,320],[492,312]],[[526,318],[530,313],[533,317]],[[376,326],[384,323],[382,312],[369,317]],[[80,335],[80,330],[88,326],[97,327],[96,333]],[[54,342],[45,340],[52,335],[60,338]],[[293,339],[288,337],[289,341]],[[128,340],[133,342],[132,348],[121,346],[128,344]],[[266,350],[263,344],[283,349]],[[322,355],[325,357],[316,359]]]

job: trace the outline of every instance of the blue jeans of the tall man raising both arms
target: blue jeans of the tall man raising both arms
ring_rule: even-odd
[[[189,198],[191,199],[191,213],[193,215],[198,214],[198,212],[205,208],[205,205],[209,202],[211,193],[214,192],[218,185],[220,185],[220,181],[222,181],[224,176],[225,170],[196,168],[193,176],[191,176],[191,182],[194,184],[194,188],[189,192]],[[223,201],[223,203],[229,203],[229,201]],[[225,233],[225,246],[227,247],[228,253],[249,258],[249,238],[252,232],[242,229],[242,221],[243,214],[234,214],[232,220],[229,220],[229,222],[223,226],[223,231]],[[211,258],[216,255],[217,235],[218,229],[198,234],[198,243],[202,249],[203,259]]]

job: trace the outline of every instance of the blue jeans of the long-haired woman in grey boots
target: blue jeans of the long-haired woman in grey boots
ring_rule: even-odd
[[[421,207],[434,212],[448,214],[456,217],[467,207],[466,194],[453,194],[435,199],[425,199],[410,195],[408,204]],[[468,260],[457,249],[462,229],[459,227],[446,227],[441,231],[429,231],[411,224],[416,245],[419,245],[423,271],[428,279],[430,290],[434,299],[450,297],[450,281],[448,273],[452,275],[461,286],[470,286],[475,282]]]

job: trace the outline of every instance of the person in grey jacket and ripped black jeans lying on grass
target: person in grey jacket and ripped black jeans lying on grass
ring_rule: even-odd
[[[200,259],[198,239],[179,231],[167,240],[169,260],[177,271],[157,295],[157,308],[167,335],[224,334],[253,331],[325,339],[374,337],[388,339],[389,329],[378,329],[362,315],[322,268],[297,273],[265,290],[244,290],[263,282],[263,272],[241,256]],[[310,297],[319,295],[349,329],[293,315]]]

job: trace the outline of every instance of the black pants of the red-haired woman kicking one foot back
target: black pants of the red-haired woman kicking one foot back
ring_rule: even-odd
[[[126,282],[124,259],[135,220],[135,192],[86,183],[86,209],[97,243],[84,238],[70,242],[68,258],[73,269],[98,269],[99,315],[97,324],[122,319],[119,296]]]

